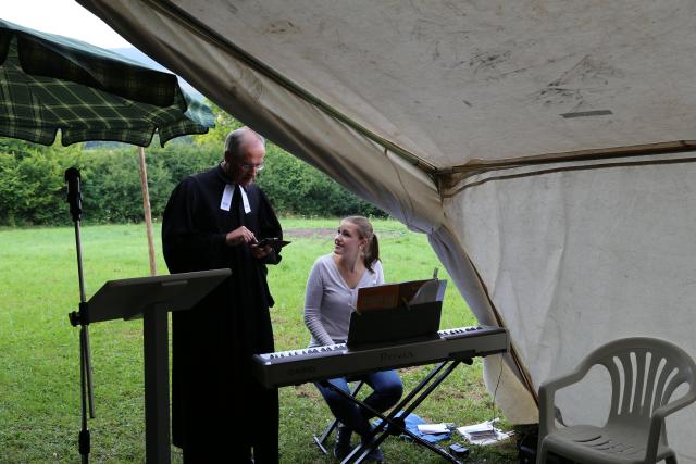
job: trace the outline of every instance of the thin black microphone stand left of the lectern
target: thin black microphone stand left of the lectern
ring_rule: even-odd
[[[70,167],[65,170],[65,181],[67,183],[67,202],[70,213],[75,222],[75,246],[77,248],[77,276],[79,278],[79,311],[69,314],[73,327],[80,326],[79,329],[79,379],[82,400],[82,423],[79,431],[78,449],[83,464],[89,462],[89,429],[87,428],[87,413],[89,418],[95,418],[95,397],[91,384],[91,361],[89,350],[89,318],[87,316],[87,298],[85,297],[85,279],[83,276],[83,252],[79,239],[79,222],[83,213],[83,199],[79,191],[79,170]]]

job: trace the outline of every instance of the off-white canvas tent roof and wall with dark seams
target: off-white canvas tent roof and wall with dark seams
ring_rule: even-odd
[[[536,390],[606,341],[696,356],[696,3],[78,1],[428,234],[478,319],[510,329],[510,421],[537,419],[521,379]],[[559,398],[568,422],[606,417],[576,401],[599,377]],[[694,424],[696,407],[668,419],[682,462]]]

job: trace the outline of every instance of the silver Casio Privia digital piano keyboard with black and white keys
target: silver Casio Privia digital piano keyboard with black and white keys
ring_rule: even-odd
[[[500,327],[439,330],[427,340],[348,348],[345,343],[254,354],[253,373],[266,388],[360,375],[375,371],[433,364],[501,353],[508,333]]]

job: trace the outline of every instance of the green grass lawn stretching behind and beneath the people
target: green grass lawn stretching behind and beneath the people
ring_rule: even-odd
[[[301,348],[309,341],[302,323],[304,283],[316,256],[331,252],[338,221],[285,218],[282,223],[293,243],[284,249],[283,262],[269,273],[276,301],[272,317],[277,350]],[[376,221],[374,226],[387,281],[426,278],[434,267],[440,268],[440,277],[449,278],[425,236],[394,221]],[[159,247],[157,225],[156,238]],[[144,225],[86,226],[82,241],[88,298],[105,280],[149,274]],[[166,274],[161,250],[158,269]],[[72,227],[0,230],[0,463],[79,461],[79,330],[67,319],[78,302]],[[442,327],[473,324],[465,302],[450,284]],[[94,462],[144,462],[141,322],[113,321],[89,330],[97,415],[89,423],[90,456]],[[407,391],[428,368],[401,369]],[[500,416],[493,410],[481,369],[480,360],[458,368],[415,413],[431,422],[458,425]],[[328,407],[312,385],[282,388],[281,461],[333,462],[312,441],[330,419]],[[442,461],[396,438],[383,449],[394,463]],[[181,462],[178,450],[172,450],[173,461]],[[514,447],[508,443],[473,449],[470,461],[514,460]]]

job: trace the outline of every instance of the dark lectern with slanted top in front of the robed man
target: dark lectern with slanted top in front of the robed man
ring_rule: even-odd
[[[87,303],[87,324],[142,317],[148,463],[171,462],[166,313],[191,308],[231,274],[231,269],[213,269],[110,280]]]

